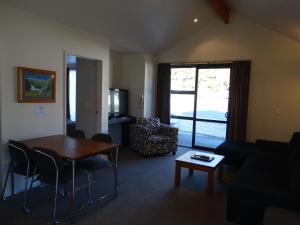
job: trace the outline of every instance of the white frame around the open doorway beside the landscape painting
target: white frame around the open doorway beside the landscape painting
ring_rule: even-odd
[[[64,72],[63,72],[63,134],[67,134],[67,56],[73,55],[82,59],[93,60],[97,62],[97,73],[96,73],[96,80],[97,80],[97,93],[96,93],[96,109],[97,109],[97,116],[96,116],[96,132],[101,132],[101,121],[102,121],[102,70],[103,70],[103,63],[100,59],[94,59],[82,55],[78,55],[72,52],[64,51]]]

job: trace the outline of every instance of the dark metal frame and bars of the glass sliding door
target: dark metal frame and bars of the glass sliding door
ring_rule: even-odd
[[[196,74],[195,74],[195,90],[194,91],[170,91],[171,94],[194,94],[194,112],[193,117],[186,117],[186,116],[172,116],[170,115],[170,118],[174,119],[184,119],[184,120],[192,120],[193,121],[193,130],[192,130],[192,147],[190,148],[196,148],[196,149],[203,149],[207,151],[213,151],[214,148],[205,147],[205,146],[198,146],[195,145],[196,140],[196,122],[202,121],[202,122],[213,122],[213,123],[228,123],[228,119],[226,122],[219,121],[219,120],[209,120],[209,119],[197,119],[197,96],[198,96],[198,70],[199,69],[218,69],[218,68],[229,68],[232,69],[232,63],[207,63],[207,64],[186,64],[186,65],[171,65],[172,68],[196,68]],[[229,87],[230,91],[230,87]],[[228,100],[229,104],[229,100]],[[226,135],[227,135],[227,126],[226,126]],[[188,146],[184,146],[188,147]]]

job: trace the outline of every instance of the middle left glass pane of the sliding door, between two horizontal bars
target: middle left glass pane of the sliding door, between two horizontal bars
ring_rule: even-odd
[[[171,94],[171,115],[193,117],[194,95]]]

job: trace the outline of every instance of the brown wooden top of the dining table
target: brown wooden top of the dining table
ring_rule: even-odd
[[[94,141],[91,139],[76,139],[66,135],[53,135],[21,141],[28,147],[42,147],[55,151],[61,157],[78,160],[89,156],[106,153],[117,149],[118,145]]]

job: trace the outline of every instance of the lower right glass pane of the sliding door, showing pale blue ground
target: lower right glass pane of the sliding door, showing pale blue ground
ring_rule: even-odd
[[[216,148],[226,137],[225,123],[196,121],[195,145]]]

